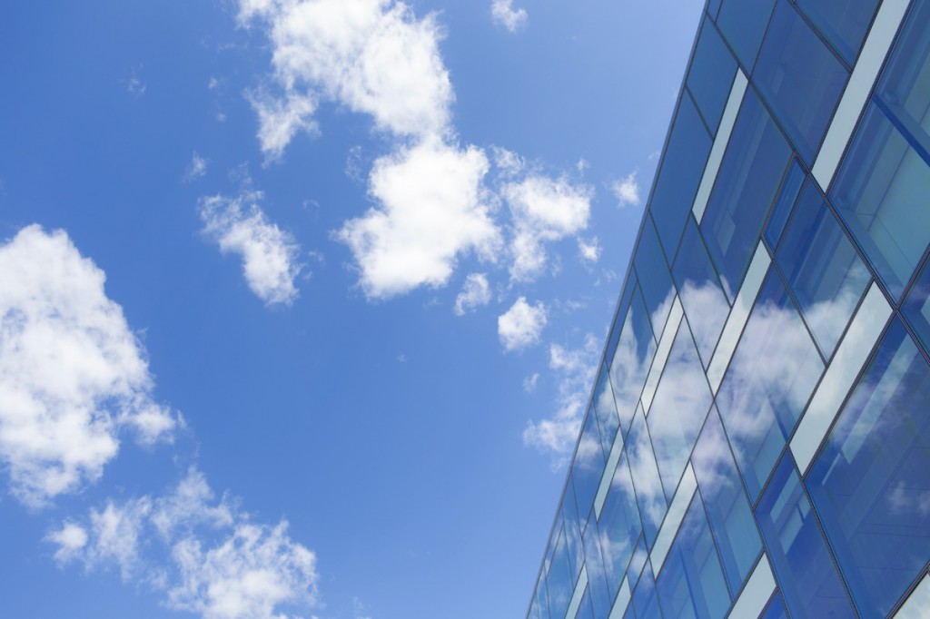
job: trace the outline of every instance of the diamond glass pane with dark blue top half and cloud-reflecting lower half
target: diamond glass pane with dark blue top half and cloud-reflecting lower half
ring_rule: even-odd
[[[711,265],[711,257],[697,231],[694,217],[688,217],[682,245],[672,267],[684,315],[697,343],[704,367],[711,363],[713,349],[724,329],[729,306],[724,288]]]

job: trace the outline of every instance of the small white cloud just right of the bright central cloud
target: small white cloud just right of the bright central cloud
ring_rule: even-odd
[[[530,282],[546,268],[544,243],[587,228],[591,189],[571,185],[565,178],[530,176],[519,183],[508,183],[501,192],[511,207],[514,222],[511,278]]]

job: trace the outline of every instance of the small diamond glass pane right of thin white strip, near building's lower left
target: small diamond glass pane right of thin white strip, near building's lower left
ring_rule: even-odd
[[[620,456],[598,522],[607,582],[613,599],[643,531],[626,454]]]

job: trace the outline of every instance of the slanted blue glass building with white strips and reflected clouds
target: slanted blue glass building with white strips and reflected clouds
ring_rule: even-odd
[[[530,619],[930,617],[930,0],[709,0]]]

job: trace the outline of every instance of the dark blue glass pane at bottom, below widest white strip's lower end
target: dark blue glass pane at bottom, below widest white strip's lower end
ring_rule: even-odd
[[[765,490],[756,518],[792,617],[856,616],[789,454]]]

